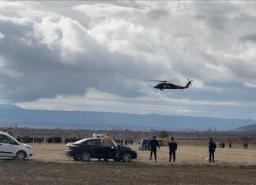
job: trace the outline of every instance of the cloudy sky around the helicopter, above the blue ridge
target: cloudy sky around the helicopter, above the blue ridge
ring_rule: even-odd
[[[256,120],[255,22],[253,1],[0,1],[0,103]]]

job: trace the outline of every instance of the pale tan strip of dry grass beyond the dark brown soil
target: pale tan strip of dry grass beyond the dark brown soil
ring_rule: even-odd
[[[179,144],[179,143],[178,143]],[[55,161],[64,163],[73,163],[70,157],[66,157],[64,150],[65,144],[32,144],[34,150],[34,160],[37,161]],[[149,151],[139,151],[137,145],[130,146],[137,151],[137,160],[143,163],[154,163],[149,161]],[[201,165],[209,163],[208,147],[206,145],[179,145],[176,152],[176,164]],[[216,164],[221,165],[256,165],[256,146],[250,146],[244,150],[241,146],[234,148],[216,149]],[[157,151],[157,163],[168,164],[168,147],[160,147]]]

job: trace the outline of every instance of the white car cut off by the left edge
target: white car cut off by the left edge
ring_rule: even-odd
[[[32,147],[18,142],[13,136],[0,131],[0,157],[24,160],[33,156]]]

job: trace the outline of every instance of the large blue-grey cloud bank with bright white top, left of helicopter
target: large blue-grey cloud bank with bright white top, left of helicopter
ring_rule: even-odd
[[[149,87],[137,78],[147,80],[149,75],[145,72],[157,71],[141,57],[112,54],[91,38],[77,20],[67,17],[48,16],[35,21],[2,16],[0,27],[8,35],[0,45],[6,59],[0,73],[1,92],[10,102],[58,94],[83,95],[88,87],[122,96],[141,96],[147,94],[144,89]],[[145,72],[141,73],[141,68]],[[13,87],[17,91],[12,91]]]

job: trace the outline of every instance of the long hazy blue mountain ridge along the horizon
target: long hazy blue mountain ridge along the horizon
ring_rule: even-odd
[[[220,119],[213,117],[180,117],[160,114],[106,113],[93,111],[55,111],[21,109],[16,105],[0,105],[0,127],[17,124],[31,128],[86,128],[104,130],[151,129],[205,131],[211,127],[218,131],[229,131],[246,125],[256,124],[255,120]]]

